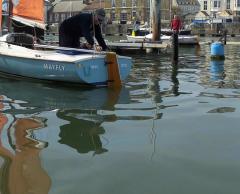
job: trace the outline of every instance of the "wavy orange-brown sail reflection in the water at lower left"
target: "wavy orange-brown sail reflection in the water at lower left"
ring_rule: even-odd
[[[39,157],[40,147],[46,144],[31,137],[32,131],[44,123],[33,117],[14,118],[9,123],[9,117],[0,113],[0,193],[47,194],[51,182]]]

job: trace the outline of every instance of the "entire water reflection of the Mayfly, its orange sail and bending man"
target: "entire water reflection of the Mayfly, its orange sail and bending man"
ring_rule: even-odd
[[[0,96],[0,193],[4,194],[44,194],[50,190],[51,178],[41,165],[40,152],[54,137],[38,139],[37,130],[47,128],[46,134],[51,119],[39,116],[42,112],[55,114],[53,119],[64,123],[55,126],[58,143],[81,154],[101,154],[107,152],[101,140],[105,133],[102,122],[115,121],[112,111],[116,103],[129,102],[126,88],[51,87],[1,78],[0,91],[6,95]]]

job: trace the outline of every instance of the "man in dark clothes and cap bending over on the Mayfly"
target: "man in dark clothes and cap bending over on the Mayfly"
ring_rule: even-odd
[[[106,50],[107,45],[102,37],[101,23],[105,19],[104,9],[97,9],[95,13],[79,13],[64,20],[59,28],[59,46],[70,48],[94,48],[94,36],[99,46],[97,51]],[[81,44],[84,37],[87,43]]]

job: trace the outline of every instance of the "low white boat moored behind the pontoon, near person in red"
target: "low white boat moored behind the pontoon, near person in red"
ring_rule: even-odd
[[[146,36],[130,36],[127,35],[127,40],[129,42],[150,42],[152,40],[152,34]],[[171,42],[171,36],[162,35],[161,41],[164,43]],[[183,45],[194,45],[199,44],[199,37],[196,35],[179,35],[178,36],[179,44]]]

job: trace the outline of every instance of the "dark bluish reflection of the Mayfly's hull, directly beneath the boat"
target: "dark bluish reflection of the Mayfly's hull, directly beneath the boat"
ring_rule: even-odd
[[[6,94],[13,109],[9,112],[36,113],[54,109],[113,109],[116,100],[129,102],[129,91],[108,88],[81,88],[61,84],[31,83],[24,80],[0,78],[0,91]]]

